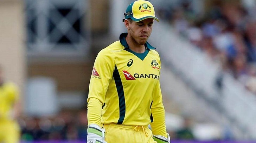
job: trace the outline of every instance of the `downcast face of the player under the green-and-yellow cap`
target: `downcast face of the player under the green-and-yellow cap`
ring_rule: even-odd
[[[147,42],[148,37],[152,32],[153,21],[154,19],[150,18],[140,22],[130,22],[130,29],[128,29],[128,32],[138,44],[144,45]]]

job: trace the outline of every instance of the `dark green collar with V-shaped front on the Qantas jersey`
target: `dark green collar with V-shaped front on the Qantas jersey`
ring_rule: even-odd
[[[141,60],[143,60],[147,55],[148,55],[148,52],[150,49],[155,49],[153,46],[151,46],[148,42],[146,42],[145,44],[145,47],[146,47],[146,51],[144,53],[136,53],[134,51],[132,51],[131,49],[129,49],[129,46],[126,42],[126,39],[125,37],[128,35],[128,33],[122,33],[120,36],[119,36],[119,40],[120,40],[120,43],[125,47],[124,50],[128,51],[128,52],[131,52],[133,53],[135,56],[137,56],[138,58],[140,58]]]

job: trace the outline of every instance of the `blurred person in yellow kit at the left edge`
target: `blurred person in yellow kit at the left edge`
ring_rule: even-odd
[[[0,66],[0,143],[18,143],[20,128],[16,121],[20,113],[17,87],[4,80]]]

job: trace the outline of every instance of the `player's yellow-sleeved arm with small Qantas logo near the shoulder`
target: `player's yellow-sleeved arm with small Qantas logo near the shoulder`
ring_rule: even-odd
[[[101,124],[101,111],[105,101],[105,94],[113,76],[115,67],[114,54],[107,50],[101,50],[94,63],[92,70],[89,95],[88,95],[88,125]]]

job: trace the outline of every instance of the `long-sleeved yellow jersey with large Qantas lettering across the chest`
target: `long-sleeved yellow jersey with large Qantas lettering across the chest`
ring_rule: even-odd
[[[120,40],[101,50],[94,63],[88,96],[88,123],[147,126],[166,136],[165,111],[159,83],[161,62],[149,43],[144,53]]]

